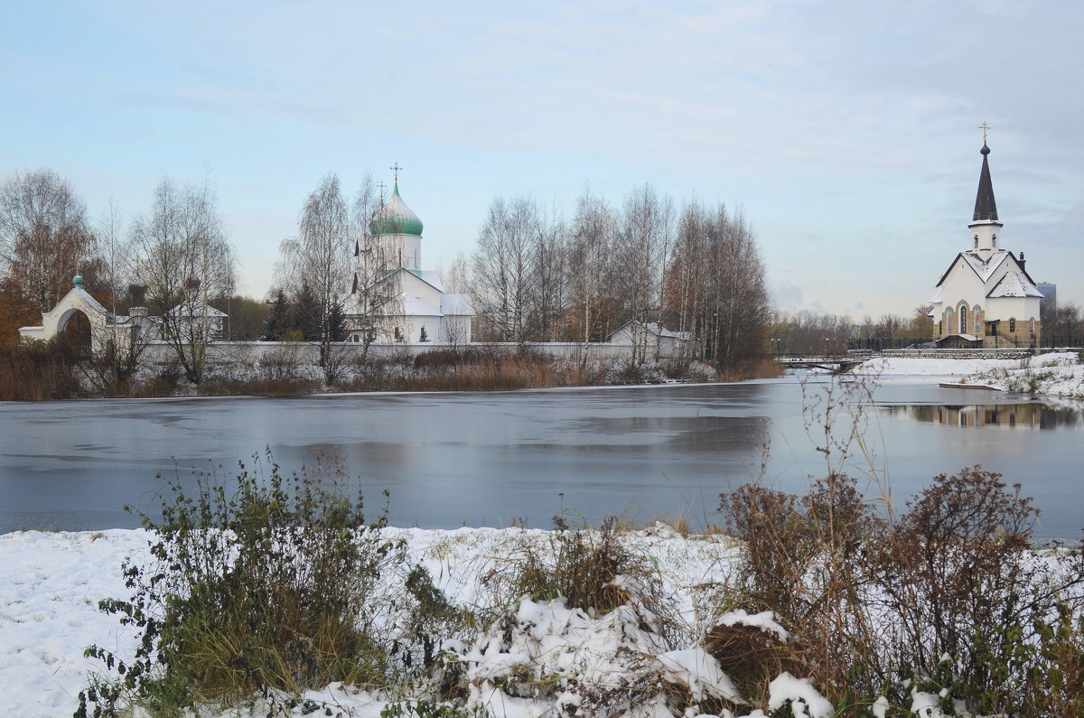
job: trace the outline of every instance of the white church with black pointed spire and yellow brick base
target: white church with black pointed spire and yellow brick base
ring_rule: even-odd
[[[1024,269],[1023,253],[1017,258],[1005,248],[985,141],[981,153],[966,249],[949,265],[930,298],[934,339],[945,347],[1038,346],[1043,295]]]

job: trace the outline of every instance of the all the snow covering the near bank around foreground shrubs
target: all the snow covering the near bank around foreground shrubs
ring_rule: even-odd
[[[547,531],[520,528],[384,531],[389,538],[406,541],[411,563],[424,565],[450,601],[479,612],[508,605],[508,597],[494,595],[493,570],[500,570],[525,546],[538,549],[551,540]],[[142,529],[0,536],[0,565],[4,566],[0,573],[0,714],[69,716],[78,705],[78,693],[87,688],[89,671],[102,668],[83,657],[88,645],[96,644],[119,657],[131,655],[136,634],[96,606],[105,598],[130,598],[121,563],[128,557],[137,563],[149,561],[151,537]],[[666,691],[648,690],[666,683],[686,691],[694,702],[714,697],[732,705],[745,704],[745,709],[735,714],[723,709],[723,718],[766,718],[763,710],[746,704],[700,640],[708,628],[720,625],[762,631],[765,641],[788,638],[771,612],[747,614],[719,605],[720,589],[739,555],[735,542],[724,536],[684,538],[661,524],[622,531],[621,540],[622,547],[646,556],[655,567],[661,581],[657,595],[666,602],[670,619],[680,619],[684,627],[680,634],[686,637],[687,644],[674,648],[673,638],[668,643],[649,606],[622,606],[595,614],[569,610],[560,601],[514,600],[511,613],[491,632],[469,644],[443,644],[446,651],[457,654],[463,667],[470,687],[467,705],[472,710],[480,707],[488,711],[463,715],[592,716],[602,707],[591,703],[597,696],[638,694],[638,703],[627,709],[615,711],[607,703],[606,715],[673,718]],[[519,694],[508,689],[516,681],[537,684],[531,679],[539,681],[540,677],[551,687],[541,696],[531,696],[533,689]],[[310,706],[298,706],[291,715],[379,718],[389,705],[389,696],[343,684],[310,691],[304,697]],[[943,715],[935,708],[938,700],[937,694],[912,689],[907,707],[915,715],[935,718]],[[402,698],[391,701],[401,703]],[[795,716],[836,715],[806,679],[786,671],[771,681],[767,703],[769,711],[789,704]],[[313,705],[319,705],[315,713]],[[869,709],[883,716],[889,705],[880,697]],[[268,715],[267,706],[260,704],[217,714],[201,711],[210,718],[262,715]],[[695,710],[685,713],[687,718],[696,715]],[[699,716],[709,718],[709,714]]]

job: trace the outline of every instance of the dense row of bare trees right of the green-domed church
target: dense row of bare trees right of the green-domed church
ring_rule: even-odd
[[[470,262],[479,338],[601,342],[634,320],[638,361],[657,324],[687,333],[691,358],[736,367],[762,352],[771,305],[749,225],[722,205],[679,214],[650,184],[619,207],[590,190],[566,220],[529,196],[498,197]]]

